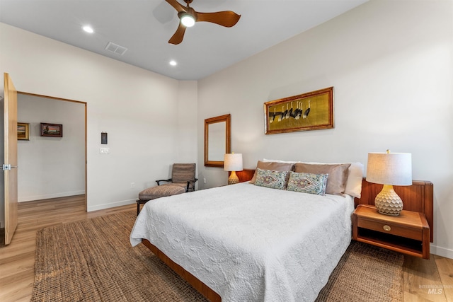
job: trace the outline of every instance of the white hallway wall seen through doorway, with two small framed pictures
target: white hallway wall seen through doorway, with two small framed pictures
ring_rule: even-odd
[[[85,194],[85,105],[18,94],[18,122],[30,140],[18,141],[18,201]],[[40,123],[63,125],[63,137],[41,137]]]

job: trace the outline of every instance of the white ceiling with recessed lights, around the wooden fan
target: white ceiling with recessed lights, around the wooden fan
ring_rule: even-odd
[[[0,0],[0,22],[173,79],[198,80],[366,1],[193,0],[195,11],[234,11],[241,19],[232,28],[196,23],[179,45],[168,44],[179,20],[164,0]],[[95,33],[84,33],[86,24]],[[108,42],[127,52],[108,52]]]

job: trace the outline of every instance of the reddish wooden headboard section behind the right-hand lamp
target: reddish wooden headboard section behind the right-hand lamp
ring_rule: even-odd
[[[355,198],[355,207],[359,204],[374,205],[374,198],[382,190],[382,185],[362,180],[362,197]],[[396,194],[403,200],[403,209],[424,213],[430,225],[430,240],[433,242],[433,201],[434,192],[432,182],[413,180],[412,185],[394,185]]]

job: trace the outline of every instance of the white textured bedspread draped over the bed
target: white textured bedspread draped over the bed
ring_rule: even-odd
[[[350,244],[352,197],[248,183],[154,199],[146,238],[227,301],[314,301]]]

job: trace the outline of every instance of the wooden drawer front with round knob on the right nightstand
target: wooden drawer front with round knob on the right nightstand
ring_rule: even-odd
[[[389,221],[374,221],[369,219],[357,219],[357,226],[359,228],[367,228],[369,230],[378,231],[382,233],[388,233],[395,236],[401,236],[404,238],[411,238],[415,240],[423,239],[422,228],[412,228],[409,226],[396,225],[389,223]]]

